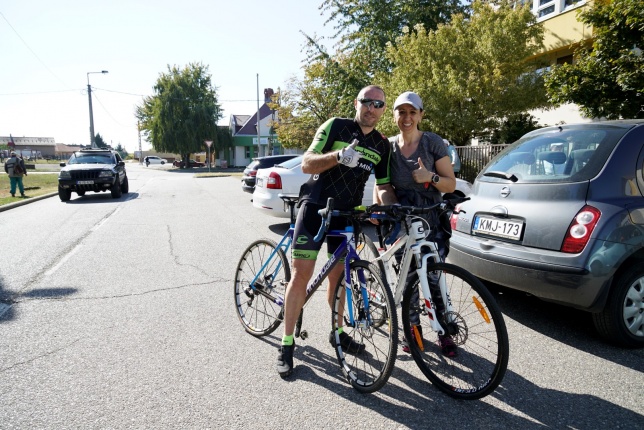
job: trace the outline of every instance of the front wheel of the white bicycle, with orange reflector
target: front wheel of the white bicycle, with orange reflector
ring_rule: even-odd
[[[402,301],[403,330],[405,338],[411,339],[411,355],[423,374],[449,396],[461,400],[485,397],[499,386],[508,366],[508,332],[503,314],[485,285],[468,271],[448,263],[430,264],[427,271],[428,275],[446,277],[455,316],[449,330],[457,345],[457,356],[442,354],[418,279],[418,303],[411,303],[411,286],[405,289]],[[420,333],[424,335],[412,336],[410,308],[420,311]],[[446,327],[442,321],[441,324]]]

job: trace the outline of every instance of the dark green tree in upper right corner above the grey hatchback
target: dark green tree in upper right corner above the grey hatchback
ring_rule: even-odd
[[[595,0],[578,19],[592,25],[592,47],[545,76],[553,103],[576,103],[591,118],[644,118],[644,7],[641,0]]]

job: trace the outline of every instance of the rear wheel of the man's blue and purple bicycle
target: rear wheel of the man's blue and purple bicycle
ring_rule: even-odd
[[[257,283],[257,288],[250,286],[276,248],[277,244],[270,239],[251,243],[242,254],[235,271],[237,317],[244,330],[256,337],[271,334],[283,319],[282,304],[286,285],[291,280],[291,268],[282,249],[277,249],[277,253],[264,268],[267,275],[258,278],[260,282]],[[278,263],[281,263],[281,267],[273,277]]]

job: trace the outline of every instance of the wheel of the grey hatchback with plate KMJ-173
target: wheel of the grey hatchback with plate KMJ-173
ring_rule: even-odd
[[[644,267],[635,264],[613,281],[602,312],[593,314],[599,334],[617,345],[644,347]]]

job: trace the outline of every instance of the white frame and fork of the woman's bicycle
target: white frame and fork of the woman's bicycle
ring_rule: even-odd
[[[407,274],[409,272],[409,267],[411,266],[412,256],[416,259],[416,274],[418,275],[423,297],[425,298],[425,307],[429,312],[430,324],[434,331],[438,332],[440,335],[444,335],[445,329],[438,322],[434,302],[429,290],[429,280],[427,279],[427,260],[431,258],[432,263],[438,263],[441,261],[438,254],[438,248],[436,247],[435,242],[426,239],[431,230],[427,230],[426,233],[424,225],[427,224],[427,222],[425,220],[415,216],[408,216],[405,219],[405,224],[408,228],[409,234],[405,233],[403,236],[399,237],[386,252],[380,254],[380,256],[375,260],[383,262],[387,283],[389,285],[396,285],[394,302],[398,306],[402,301],[402,294],[405,290],[405,283],[407,282]],[[423,246],[429,247],[430,251],[421,254]],[[396,280],[395,271],[393,269],[393,262],[395,261],[394,254],[403,247],[403,257],[400,262],[398,279]],[[446,315],[449,316],[452,311],[452,301],[449,297],[449,293],[447,292],[445,276],[439,276],[438,285],[440,287],[443,303],[445,304]]]

